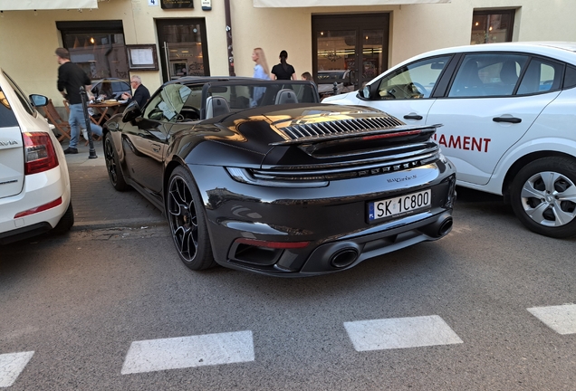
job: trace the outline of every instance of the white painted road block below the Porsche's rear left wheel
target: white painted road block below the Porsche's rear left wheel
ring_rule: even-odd
[[[254,361],[252,331],[132,342],[121,374]]]

